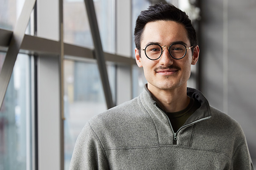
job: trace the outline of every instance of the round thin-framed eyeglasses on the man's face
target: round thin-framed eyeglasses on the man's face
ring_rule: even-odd
[[[146,57],[151,60],[157,60],[159,59],[163,54],[163,47],[168,47],[169,54],[174,59],[182,59],[186,56],[187,49],[190,49],[192,47],[186,47],[183,44],[175,43],[170,46],[164,45],[160,46],[158,44],[149,44],[145,47],[145,49],[142,49],[145,51]]]

